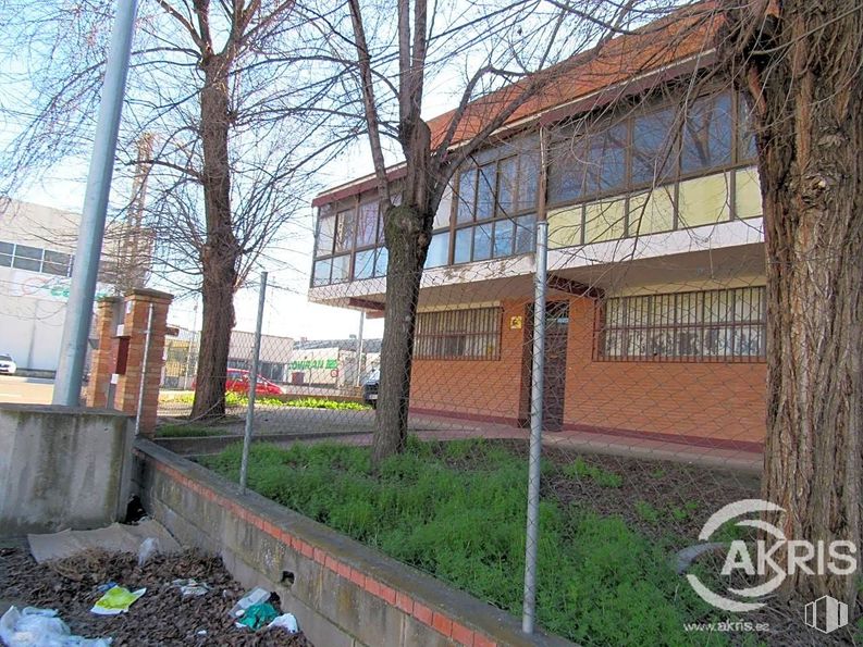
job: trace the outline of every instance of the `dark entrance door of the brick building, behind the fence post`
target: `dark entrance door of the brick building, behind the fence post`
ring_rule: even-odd
[[[525,377],[521,401],[527,405],[523,418],[530,420],[533,374],[533,304],[527,308],[525,336]],[[566,345],[569,336],[569,301],[545,304],[545,366],[543,370],[543,430],[559,432],[564,424],[566,393]]]

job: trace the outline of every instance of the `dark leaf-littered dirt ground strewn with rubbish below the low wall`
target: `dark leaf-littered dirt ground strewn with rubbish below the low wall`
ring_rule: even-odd
[[[206,582],[212,588],[204,596],[184,598],[172,584],[183,578]],[[128,589],[146,587],[147,593],[127,613],[96,615],[90,608],[102,595],[98,586],[109,581]],[[0,548],[0,599],[20,607],[57,609],[76,635],[113,637],[115,647],[311,645],[301,633],[234,626],[230,610],[244,593],[221,559],[193,550],[156,556],[141,568],[131,553],[87,552],[39,565],[25,547]],[[282,613],[278,599],[270,602]]]

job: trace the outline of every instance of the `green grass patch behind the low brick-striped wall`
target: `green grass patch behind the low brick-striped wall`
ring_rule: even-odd
[[[236,480],[241,447],[202,462]],[[619,486],[611,473],[575,461],[555,472]],[[618,483],[618,485],[614,485]],[[527,464],[483,440],[411,438],[408,449],[372,472],[369,450],[335,444],[251,448],[249,484],[405,563],[521,612]],[[670,567],[668,547],[619,517],[587,508],[540,507],[538,619],[583,645],[725,644],[687,634],[683,622],[713,612]],[[706,642],[705,642],[706,639]]]

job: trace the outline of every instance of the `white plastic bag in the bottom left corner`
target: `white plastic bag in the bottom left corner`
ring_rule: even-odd
[[[0,639],[7,647],[109,647],[111,638],[73,636],[56,609],[15,607],[0,618]]]

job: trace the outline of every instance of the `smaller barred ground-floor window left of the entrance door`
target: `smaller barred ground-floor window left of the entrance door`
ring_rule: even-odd
[[[417,359],[501,359],[501,308],[445,310],[417,314]]]

